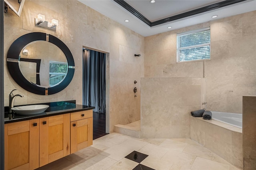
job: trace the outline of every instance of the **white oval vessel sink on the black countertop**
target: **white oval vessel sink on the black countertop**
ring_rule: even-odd
[[[48,105],[28,105],[13,107],[12,110],[18,115],[33,115],[46,111]]]

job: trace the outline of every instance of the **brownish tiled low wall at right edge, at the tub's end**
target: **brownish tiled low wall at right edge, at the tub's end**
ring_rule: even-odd
[[[256,169],[256,96],[243,96],[244,170]]]

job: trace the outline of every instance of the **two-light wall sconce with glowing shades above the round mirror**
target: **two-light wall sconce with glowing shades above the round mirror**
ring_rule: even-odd
[[[36,26],[40,26],[43,28],[47,28],[53,31],[56,31],[56,26],[59,25],[59,21],[52,19],[51,22],[45,20],[45,16],[42,14],[38,14],[35,18]]]

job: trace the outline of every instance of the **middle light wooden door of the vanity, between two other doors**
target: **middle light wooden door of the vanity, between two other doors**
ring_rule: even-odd
[[[70,113],[40,118],[40,167],[70,154]]]

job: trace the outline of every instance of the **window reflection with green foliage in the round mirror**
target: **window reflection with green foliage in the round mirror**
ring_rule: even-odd
[[[68,63],[50,61],[49,86],[60,83],[68,72]]]

